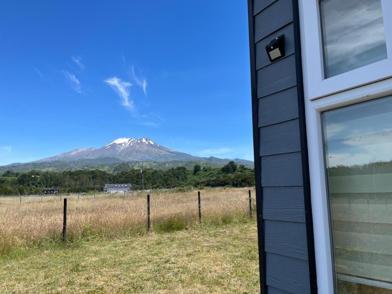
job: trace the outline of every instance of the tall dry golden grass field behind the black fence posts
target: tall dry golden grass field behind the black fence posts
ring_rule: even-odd
[[[207,188],[201,191],[203,225],[249,218],[247,188]],[[252,189],[252,195],[254,190]],[[189,229],[198,225],[197,191],[153,191],[153,232]],[[147,192],[139,194],[68,195],[67,242],[113,239],[147,231]],[[64,198],[64,196],[62,196]],[[60,196],[0,198],[0,256],[14,249],[61,243],[63,202]]]

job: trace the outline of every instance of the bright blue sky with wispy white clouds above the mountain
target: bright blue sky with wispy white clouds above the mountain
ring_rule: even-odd
[[[253,160],[244,1],[0,9],[0,165],[116,138]]]

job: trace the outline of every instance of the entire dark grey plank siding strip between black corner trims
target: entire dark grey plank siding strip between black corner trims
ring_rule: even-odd
[[[267,294],[310,293],[293,1],[253,0]],[[265,46],[285,34],[286,55]],[[302,86],[302,85],[301,85]]]

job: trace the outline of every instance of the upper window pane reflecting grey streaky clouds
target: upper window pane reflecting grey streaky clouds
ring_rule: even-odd
[[[325,78],[387,58],[381,0],[322,0]]]

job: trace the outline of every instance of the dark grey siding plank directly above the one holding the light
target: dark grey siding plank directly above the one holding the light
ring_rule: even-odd
[[[292,0],[278,0],[254,17],[255,42],[293,20]]]

